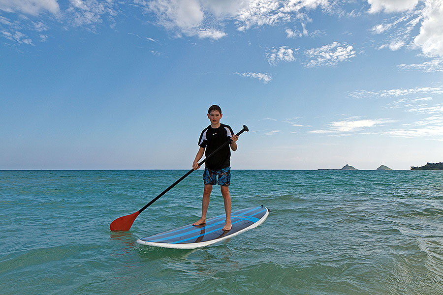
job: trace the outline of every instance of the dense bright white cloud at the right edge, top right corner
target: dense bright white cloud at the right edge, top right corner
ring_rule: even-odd
[[[426,0],[420,33],[414,38],[425,55],[443,57],[443,1]]]

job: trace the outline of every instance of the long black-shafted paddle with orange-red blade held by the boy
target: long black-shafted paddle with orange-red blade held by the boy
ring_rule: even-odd
[[[240,134],[242,134],[244,131],[249,131],[248,127],[246,125],[243,125],[243,129],[237,133],[236,135],[239,136]],[[224,144],[222,144],[220,146],[220,148],[217,148],[216,150],[214,150],[209,156],[207,156],[203,161],[201,161],[200,163],[198,163],[198,166],[201,166],[201,164],[203,164],[204,162],[206,162],[207,159],[209,159],[210,157],[212,157],[215,153],[217,153],[221,148],[227,146],[228,144],[231,143],[231,140],[226,141]],[[109,228],[111,229],[111,231],[113,232],[117,232],[117,231],[128,231],[131,226],[132,223],[134,223],[135,218],[137,218],[138,214],[140,214],[141,212],[143,212],[144,209],[146,209],[147,207],[151,206],[152,203],[156,202],[161,196],[163,196],[164,194],[166,194],[171,188],[173,188],[174,186],[177,185],[177,183],[179,183],[180,181],[182,181],[183,179],[185,179],[185,177],[187,177],[188,175],[190,175],[192,172],[194,171],[194,169],[191,169],[190,171],[188,171],[184,176],[180,177],[177,181],[175,181],[174,183],[172,183],[167,189],[165,189],[164,191],[162,191],[157,197],[155,197],[154,199],[151,200],[151,202],[149,202],[148,204],[146,204],[144,207],[142,207],[140,210],[138,210],[135,213],[126,215],[126,216],[122,216],[117,218],[116,220],[114,220],[113,222],[111,222],[111,225],[109,226]]]

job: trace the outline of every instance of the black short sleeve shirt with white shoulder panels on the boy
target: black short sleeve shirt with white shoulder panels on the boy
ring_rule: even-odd
[[[234,132],[231,127],[220,123],[219,128],[212,128],[211,125],[203,129],[198,140],[198,145],[201,148],[206,148],[205,156],[210,155],[217,148],[220,148],[226,141],[228,141]],[[229,145],[221,148],[215,155],[210,157],[205,165],[211,170],[220,170],[230,166],[231,150]]]

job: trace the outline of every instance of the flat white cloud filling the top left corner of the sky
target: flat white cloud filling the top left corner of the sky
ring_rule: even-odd
[[[37,15],[41,11],[60,12],[57,0],[0,0],[0,10]]]

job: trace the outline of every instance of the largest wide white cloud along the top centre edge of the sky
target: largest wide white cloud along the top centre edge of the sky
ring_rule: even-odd
[[[196,35],[195,29],[217,29],[233,20],[240,31],[304,19],[304,11],[321,7],[333,11],[329,0],[135,0],[158,17],[167,29]],[[304,26],[304,24],[303,24]],[[304,29],[304,32],[306,29]]]

